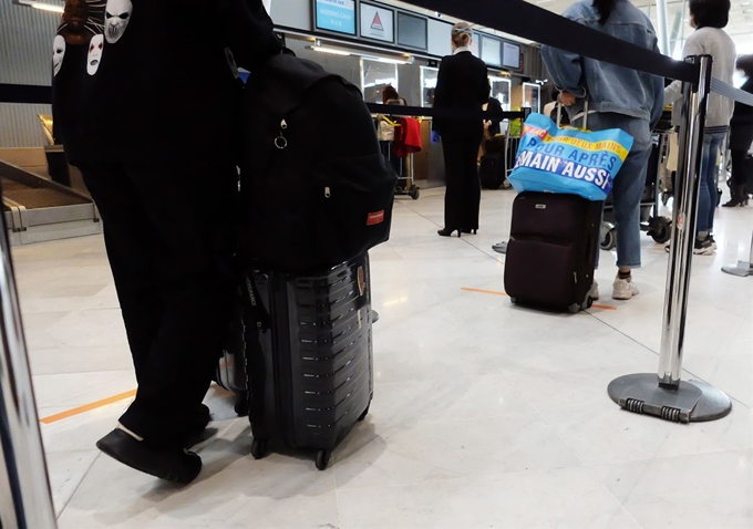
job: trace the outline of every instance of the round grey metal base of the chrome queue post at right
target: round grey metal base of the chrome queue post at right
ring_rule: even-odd
[[[732,412],[730,397],[705,382],[681,381],[678,388],[664,388],[653,373],[620,376],[609,384],[607,392],[629,412],[674,423],[715,421]]]

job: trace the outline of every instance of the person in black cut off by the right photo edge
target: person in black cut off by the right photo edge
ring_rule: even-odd
[[[744,55],[737,59],[737,70],[742,70],[747,80],[742,90],[753,94],[753,55]],[[724,204],[725,208],[747,206],[749,194],[753,189],[747,188],[751,175],[747,173],[753,167],[747,162],[747,153],[753,144],[753,106],[735,103],[734,115],[730,122],[730,154],[732,158],[732,198]]]

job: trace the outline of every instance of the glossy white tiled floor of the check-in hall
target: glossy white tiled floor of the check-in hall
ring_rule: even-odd
[[[751,528],[753,208],[722,210],[715,257],[694,261],[688,377],[729,392],[722,421],[621,412],[613,377],[658,365],[667,255],[643,239],[642,293],[578,315],[499,295],[510,191],[485,193],[482,230],[442,239],[441,190],[399,200],[372,252],[375,401],[323,473],[307,456],[251,458],[249,427],[213,390],[205,470],[179,488],[97,454],[127,401],[43,425],[61,528]],[[40,415],[135,387],[99,237],[18,248]],[[608,288],[613,258],[598,278]]]

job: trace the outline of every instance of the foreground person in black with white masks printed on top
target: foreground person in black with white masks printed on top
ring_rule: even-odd
[[[229,326],[235,61],[252,79],[280,50],[261,0],[68,0],[55,38],[54,135],[102,216],[138,382],[97,447],[171,481],[200,471],[183,447]]]

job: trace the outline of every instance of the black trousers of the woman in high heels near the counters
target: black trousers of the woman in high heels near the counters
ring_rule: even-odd
[[[446,191],[444,196],[444,227],[447,229],[478,229],[481,183],[478,181],[478,147],[483,131],[445,133],[442,135]]]

